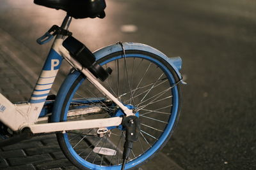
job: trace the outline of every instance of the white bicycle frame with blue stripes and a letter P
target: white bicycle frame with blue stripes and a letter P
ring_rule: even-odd
[[[72,17],[65,17],[62,29],[67,30],[72,20]],[[57,35],[52,44],[51,51],[45,61],[45,65],[40,73],[38,81],[36,82],[35,89],[31,95],[28,103],[13,104],[6,97],[0,94],[0,121],[3,122],[12,131],[20,131],[24,127],[29,127],[34,134],[58,132],[58,131],[70,131],[75,129],[90,129],[90,128],[104,128],[110,126],[118,126],[122,123],[121,117],[112,118],[100,118],[94,120],[77,120],[72,122],[54,122],[36,124],[38,117],[44,107],[46,98],[51,90],[52,83],[59,71],[62,59],[66,59],[71,66],[81,71],[90,82],[95,85],[97,89],[116,103],[125,113],[125,115],[134,115],[132,110],[129,110],[124,104],[122,104],[115,96],[113,96],[108,90],[106,90],[100,82],[93,76],[88,69],[85,69],[76,59],[74,59],[68,50],[62,46],[65,36]],[[95,108],[94,108],[95,109]],[[86,111],[89,110],[89,111]],[[99,108],[94,111],[99,111]],[[68,115],[77,115],[92,113],[92,108],[85,108],[83,111],[70,111]]]

